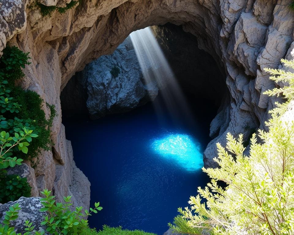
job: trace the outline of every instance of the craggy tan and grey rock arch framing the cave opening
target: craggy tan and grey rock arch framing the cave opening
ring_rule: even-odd
[[[89,182],[74,165],[59,98],[86,63],[111,53],[130,32],[149,25],[170,22],[195,35],[198,47],[223,67],[230,91],[230,102],[211,125],[211,135],[217,137],[205,150],[205,166],[215,166],[215,144],[224,144],[227,132],[244,132],[246,138],[252,128],[264,128],[273,100],[262,92],[274,85],[263,68],[277,68],[281,58],[293,57],[291,0],[82,0],[66,13],[56,11],[50,17],[42,17],[33,2],[0,2],[0,51],[9,43],[31,52],[32,64],[25,69],[22,86],[55,104],[59,114],[52,127],[55,146],[40,156],[32,183],[39,190],[53,188],[59,199],[73,194],[76,203],[86,207]],[[40,2],[66,4],[65,0]]]

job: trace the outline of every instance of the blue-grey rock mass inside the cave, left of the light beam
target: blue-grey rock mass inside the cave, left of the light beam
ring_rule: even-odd
[[[112,74],[115,69],[117,74]],[[79,105],[81,108],[77,108],[74,101],[81,100],[83,90],[87,94],[86,106],[92,119],[129,111],[148,100],[153,100],[158,94],[155,81],[146,85],[143,80],[130,37],[127,37],[111,55],[103,55],[86,65],[85,69],[75,76],[75,81],[74,84],[68,84],[61,93],[62,105],[67,109],[67,112],[62,111],[83,111],[83,104]],[[82,97],[68,97],[69,93],[77,91],[77,87],[77,93]]]

